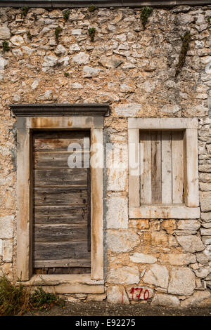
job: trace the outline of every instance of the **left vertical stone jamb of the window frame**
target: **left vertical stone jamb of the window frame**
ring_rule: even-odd
[[[128,130],[129,144],[129,206],[140,206],[139,129]]]

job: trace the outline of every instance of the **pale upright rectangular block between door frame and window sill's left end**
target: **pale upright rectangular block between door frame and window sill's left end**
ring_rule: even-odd
[[[128,225],[127,197],[116,196],[108,197],[106,222],[107,228],[126,229]]]

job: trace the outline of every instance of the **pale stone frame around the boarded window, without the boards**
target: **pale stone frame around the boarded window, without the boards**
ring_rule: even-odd
[[[139,146],[140,130],[184,131],[184,205],[140,204],[139,175],[132,175],[132,150]],[[129,218],[199,218],[198,192],[198,119],[197,118],[129,118]],[[139,171],[140,169],[138,169]]]

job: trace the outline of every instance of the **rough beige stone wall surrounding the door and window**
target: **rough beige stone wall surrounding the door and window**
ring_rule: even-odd
[[[105,142],[122,145],[126,169],[105,171],[108,301],[203,305],[211,303],[211,6],[154,8],[145,30],[140,16],[141,9],[75,8],[65,21],[60,10],[32,8],[25,16],[0,8],[0,269],[15,274],[16,130],[9,104],[110,103]],[[175,78],[187,30],[192,40]],[[200,219],[129,220],[127,117],[198,117]]]

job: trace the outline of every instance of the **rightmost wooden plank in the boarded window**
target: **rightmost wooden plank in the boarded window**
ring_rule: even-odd
[[[183,131],[172,131],[172,203],[184,203]]]

